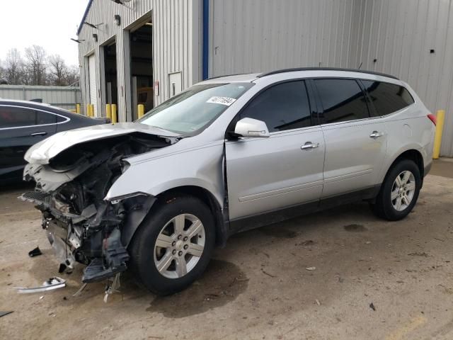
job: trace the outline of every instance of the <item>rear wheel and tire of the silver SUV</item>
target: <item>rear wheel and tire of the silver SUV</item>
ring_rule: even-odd
[[[417,164],[403,159],[389,169],[372,210],[386,220],[401,220],[417,203],[421,186]]]

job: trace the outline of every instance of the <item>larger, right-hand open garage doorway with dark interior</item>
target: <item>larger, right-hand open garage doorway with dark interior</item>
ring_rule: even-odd
[[[130,74],[132,76],[132,120],[138,118],[139,104],[144,112],[154,108],[153,93],[153,25],[151,18],[130,31]]]

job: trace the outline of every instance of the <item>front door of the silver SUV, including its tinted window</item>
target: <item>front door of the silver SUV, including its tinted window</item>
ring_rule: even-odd
[[[242,118],[264,121],[270,137],[226,142],[230,220],[318,201],[324,141],[321,127],[312,123],[304,81],[265,89],[236,120]]]

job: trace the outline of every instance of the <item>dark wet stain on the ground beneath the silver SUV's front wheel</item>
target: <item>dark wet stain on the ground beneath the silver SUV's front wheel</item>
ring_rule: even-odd
[[[247,289],[248,278],[234,263],[211,260],[200,280],[171,296],[155,297],[149,312],[180,318],[226,305]]]

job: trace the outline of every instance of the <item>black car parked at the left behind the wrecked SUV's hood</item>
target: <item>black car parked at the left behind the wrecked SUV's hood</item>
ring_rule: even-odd
[[[32,101],[0,99],[0,186],[22,181],[25,152],[57,132],[110,123]]]

